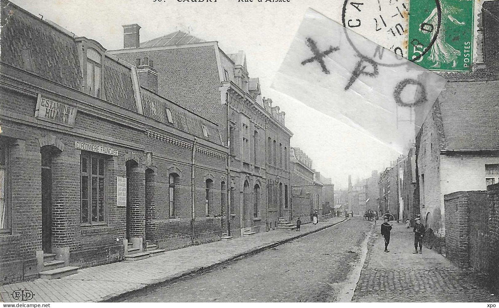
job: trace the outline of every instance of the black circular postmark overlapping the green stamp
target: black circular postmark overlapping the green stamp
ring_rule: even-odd
[[[373,19],[373,23],[374,23],[374,30],[375,30],[375,33],[382,33],[382,32],[378,32],[378,31],[381,31],[381,30],[385,30],[387,33],[388,33],[388,36],[390,36],[390,34],[392,34],[395,38],[397,38],[397,35],[399,35],[400,37],[406,37],[405,35],[407,34],[407,31],[404,31],[403,29],[403,26],[402,26],[402,23],[401,22],[397,22],[397,21],[400,21],[400,20],[397,20],[395,19],[395,21],[392,22],[392,24],[389,23],[388,21],[388,17],[386,16],[389,16],[391,18],[408,18],[408,13],[406,13],[407,10],[401,10],[399,6],[397,5],[392,5],[390,8],[392,9],[392,13],[395,13],[394,15],[391,15],[390,16],[390,13],[388,13],[388,15],[385,14],[382,14],[382,13],[379,13],[379,12],[383,12],[383,9],[382,9],[382,5],[381,5],[381,0],[378,0],[377,1],[377,6],[378,6],[378,12],[376,13],[372,13],[372,12],[369,12],[368,16],[371,16],[371,18]],[[389,0],[389,3],[392,4],[392,0]],[[353,16],[354,14],[352,14],[350,16],[350,18],[346,18],[346,15],[347,15],[347,7],[350,7],[348,6],[348,4],[350,4],[351,6],[351,10],[355,13],[362,13],[362,12],[366,12],[366,9],[363,7],[364,5],[364,2],[354,2],[353,0],[345,0],[343,2],[343,9],[342,9],[342,13],[341,13],[341,22],[343,24],[343,27],[345,27],[344,29],[344,32],[345,32],[345,37],[347,38],[349,44],[352,46],[352,48],[354,49],[354,51],[357,53],[357,55],[360,57],[360,58],[364,58],[364,59],[369,59],[371,61],[373,61],[373,63],[376,63],[377,65],[380,65],[380,66],[386,66],[386,67],[394,67],[394,66],[401,66],[401,65],[405,65],[405,62],[397,62],[397,63],[387,63],[387,62],[383,62],[381,61],[381,57],[379,57],[379,59],[375,60],[375,55],[373,56],[367,56],[366,55],[366,52],[363,52],[361,51],[361,48],[359,46],[356,46],[353,42],[352,42],[352,39],[349,37],[348,35],[348,31],[346,30],[346,28],[357,28],[357,27],[361,27],[362,26],[362,20],[364,19],[365,20],[365,16],[363,19],[361,19],[360,16],[358,16],[358,18],[355,18],[355,16]],[[372,4],[372,2],[371,2]],[[437,36],[439,34],[439,30],[440,30],[440,25],[441,25],[441,21],[442,21],[442,10],[441,10],[441,5],[440,5],[440,1],[439,0],[435,0],[435,5],[436,5],[436,8],[437,8],[437,18],[438,18],[438,23],[437,23],[437,27],[436,29],[428,29],[427,27],[429,26],[428,24],[421,24],[420,25],[420,29],[422,31],[428,31],[428,32],[434,32],[433,34],[433,37],[430,41],[430,43],[424,48],[423,48],[423,51],[418,55],[418,56],[415,56],[413,57],[412,59],[409,59],[409,61],[411,62],[417,62],[419,59],[421,59],[426,53],[428,53],[428,51],[430,50],[430,48],[433,46],[433,44],[435,43],[435,41],[437,40]],[[405,5],[402,7],[403,9],[406,9]],[[379,13],[379,14],[378,14]],[[397,23],[395,23],[397,22]],[[393,24],[395,23],[395,24]],[[365,24],[365,23],[364,23]],[[391,26],[390,26],[391,25]],[[363,31],[360,31],[360,32],[369,32],[369,29],[363,29]],[[396,41],[396,39],[393,39]],[[392,41],[393,41],[392,40]],[[390,40],[388,40],[390,41]],[[413,40],[414,41],[414,40]],[[384,43],[386,44],[386,40],[384,41]],[[390,44],[390,43],[388,43]],[[408,44],[411,44],[411,45],[416,45],[416,44],[421,44],[419,41],[416,42],[408,42]],[[403,50],[400,46],[397,46],[395,47],[396,44],[393,44],[392,47],[393,48],[393,51],[401,56],[401,58],[403,57]],[[382,52],[381,52],[382,53]]]

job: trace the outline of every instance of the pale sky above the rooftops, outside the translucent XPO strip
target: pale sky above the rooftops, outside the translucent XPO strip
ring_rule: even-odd
[[[212,0],[215,1],[215,0]],[[341,21],[342,0],[290,2],[191,2],[178,0],[12,0],[32,14],[43,15],[75,36],[94,39],[108,49],[123,47],[122,25],[137,23],[140,40],[182,30],[218,41],[227,53],[244,50],[250,78],[258,77],[262,96],[286,113],[293,132],[291,146],[312,159],[313,168],[346,188],[372,170],[383,171],[399,153],[376,139],[270,88],[303,15],[311,7]],[[41,16],[40,16],[41,17]]]

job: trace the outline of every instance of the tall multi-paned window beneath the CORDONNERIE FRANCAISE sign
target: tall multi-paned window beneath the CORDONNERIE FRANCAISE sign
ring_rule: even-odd
[[[106,224],[106,157],[81,154],[81,223]]]

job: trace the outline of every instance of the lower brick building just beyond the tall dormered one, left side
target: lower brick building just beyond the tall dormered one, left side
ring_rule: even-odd
[[[312,214],[322,215],[322,183],[316,179],[312,160],[300,148],[290,151],[292,219],[310,222]],[[305,197],[305,198],[304,198]]]

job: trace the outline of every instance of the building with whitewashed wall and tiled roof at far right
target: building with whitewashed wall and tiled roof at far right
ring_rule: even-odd
[[[485,191],[499,180],[498,14],[499,1],[483,3],[479,63],[471,73],[442,73],[449,82],[416,139],[421,216],[443,253],[444,195]]]

